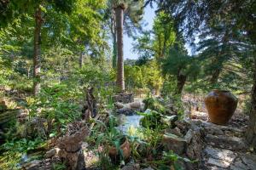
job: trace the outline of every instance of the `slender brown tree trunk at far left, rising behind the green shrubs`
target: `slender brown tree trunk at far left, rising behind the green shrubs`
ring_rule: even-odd
[[[34,53],[33,53],[33,94],[40,92],[40,53],[41,53],[41,27],[42,27],[42,11],[36,8],[35,11],[35,31],[34,31]]]

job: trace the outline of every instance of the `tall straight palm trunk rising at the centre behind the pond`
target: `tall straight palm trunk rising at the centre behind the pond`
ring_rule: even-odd
[[[124,44],[123,44],[123,20],[125,8],[121,5],[115,8],[116,30],[117,30],[117,88],[119,91],[125,91],[124,77]]]

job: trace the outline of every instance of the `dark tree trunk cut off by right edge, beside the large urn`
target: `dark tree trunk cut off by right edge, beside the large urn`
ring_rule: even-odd
[[[256,53],[254,53],[256,54]],[[254,76],[253,76],[253,88],[252,88],[252,100],[249,126],[247,129],[247,141],[256,147],[256,56],[254,56]]]

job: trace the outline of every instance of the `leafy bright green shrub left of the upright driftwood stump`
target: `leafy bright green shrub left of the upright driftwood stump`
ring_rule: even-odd
[[[55,135],[65,133],[68,122],[80,118],[78,105],[79,95],[75,89],[67,88],[66,84],[43,88],[36,99],[32,99],[28,110],[30,116],[42,116],[47,119],[50,132]],[[38,111],[40,109],[40,111]]]

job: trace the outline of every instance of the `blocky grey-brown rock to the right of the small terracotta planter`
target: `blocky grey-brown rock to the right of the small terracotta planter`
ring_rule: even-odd
[[[178,155],[181,155],[185,150],[186,140],[167,133],[163,135],[162,144],[164,144],[167,150],[173,150]]]

